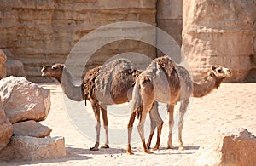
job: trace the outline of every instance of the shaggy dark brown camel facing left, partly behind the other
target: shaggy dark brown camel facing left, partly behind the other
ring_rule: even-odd
[[[135,66],[129,60],[113,60],[104,66],[98,66],[88,71],[79,86],[73,84],[72,77],[64,64],[57,63],[52,66],[44,66],[41,72],[42,76],[55,77],[61,83],[61,88],[69,99],[85,100],[85,105],[86,100],[90,100],[96,117],[96,144],[90,148],[92,151],[99,148],[100,112],[102,112],[106,136],[105,145],[102,148],[108,148],[107,106],[131,100],[132,89],[136,77],[140,73],[135,69]],[[153,112],[158,113],[157,110]]]

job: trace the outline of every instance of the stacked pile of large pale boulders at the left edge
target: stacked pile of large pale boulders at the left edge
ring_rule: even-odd
[[[0,160],[38,160],[66,156],[63,137],[49,137],[44,121],[50,108],[49,89],[24,77],[0,80]]]

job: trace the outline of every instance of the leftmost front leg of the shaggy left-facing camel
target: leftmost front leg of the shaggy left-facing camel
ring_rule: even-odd
[[[100,132],[101,132],[101,118],[100,118],[100,107],[96,103],[91,104],[92,109],[95,114],[96,118],[96,143],[94,147],[90,147],[90,151],[97,151],[99,150],[99,145],[100,145]]]

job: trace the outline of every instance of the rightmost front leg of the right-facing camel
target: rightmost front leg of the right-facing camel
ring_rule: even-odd
[[[183,131],[183,123],[184,123],[184,115],[187,111],[187,107],[189,105],[189,100],[181,101],[181,106],[179,110],[179,122],[178,122],[178,144],[179,144],[179,150],[185,150],[185,147],[183,146],[183,140],[182,140],[182,131]]]

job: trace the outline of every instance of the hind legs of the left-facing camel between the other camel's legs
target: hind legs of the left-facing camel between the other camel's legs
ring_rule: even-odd
[[[154,101],[154,105],[149,113],[151,128],[150,128],[150,135],[149,135],[148,143],[147,143],[148,149],[150,148],[151,140],[154,135],[154,129],[157,127],[157,140],[156,140],[156,144],[155,144],[153,150],[159,150],[160,135],[161,135],[161,130],[162,130],[163,123],[164,123],[160,117],[157,106],[158,106],[158,103]]]

